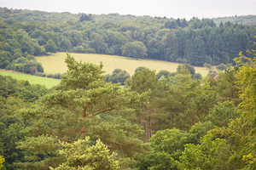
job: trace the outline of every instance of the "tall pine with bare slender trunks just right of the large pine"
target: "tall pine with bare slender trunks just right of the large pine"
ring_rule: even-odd
[[[147,93],[147,97],[140,100],[140,105],[130,119],[143,125],[145,139],[148,141],[155,131],[162,128],[160,122],[167,122],[166,124],[169,122],[169,119],[166,119],[169,114],[166,114],[160,105],[160,100],[165,98],[169,86],[166,82],[158,81],[155,71],[150,71],[148,68],[137,71],[131,79],[131,82],[127,82],[131,91],[138,94]]]

